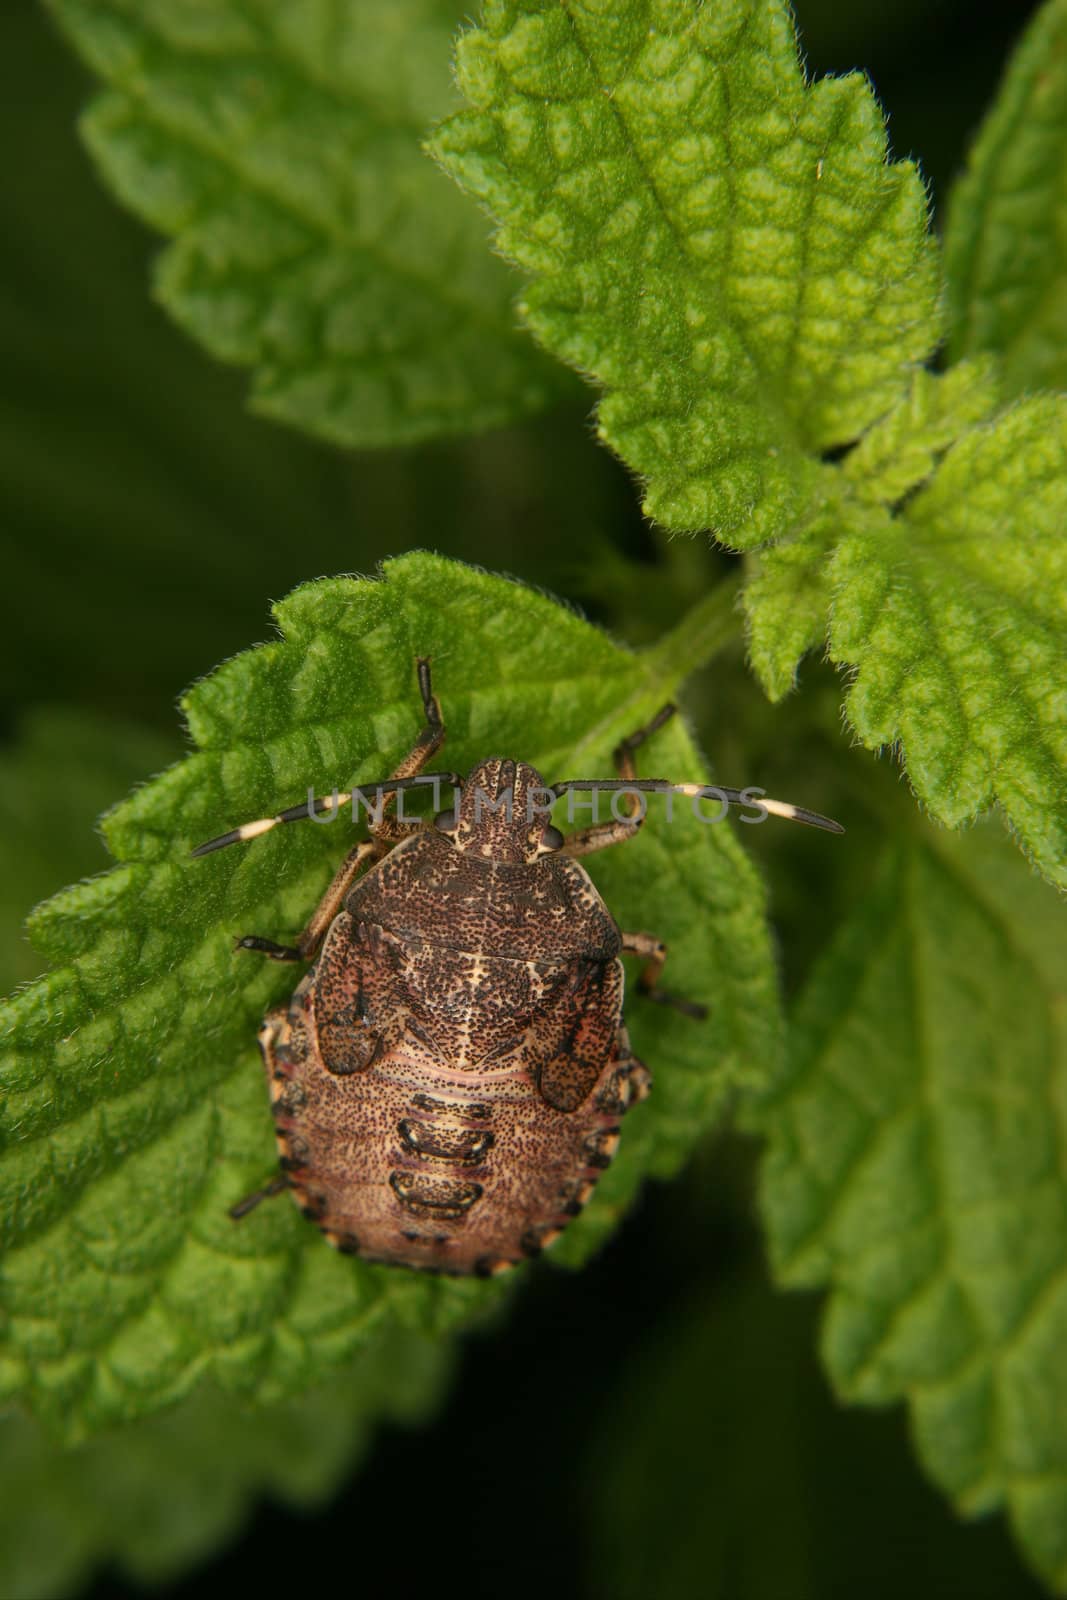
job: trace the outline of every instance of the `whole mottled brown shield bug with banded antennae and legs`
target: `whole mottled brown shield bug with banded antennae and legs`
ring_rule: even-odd
[[[349,851],[299,941],[238,939],[314,965],[259,1032],[283,1176],[232,1214],[288,1189],[342,1251],[486,1275],[536,1256],[582,1210],[621,1117],[648,1094],[622,1021],[621,954],[643,957],[643,994],[704,1016],[656,987],[665,946],[621,933],[576,858],[637,834],[640,790],[837,824],[749,792],[638,781],[633,752],[672,706],[619,746],[617,781],[549,789],[501,757],[466,779],[430,779],[445,725],[427,661],[418,680],[426,726],[390,779],[357,790],[370,838]],[[448,810],[392,814],[398,792],[430,781],[453,786]],[[627,790],[624,814],[565,838],[549,811],[568,789]],[[349,800],[309,800],[195,854]]]

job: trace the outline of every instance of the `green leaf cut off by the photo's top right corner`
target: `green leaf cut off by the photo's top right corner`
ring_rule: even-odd
[[[945,274],[953,358],[992,350],[1009,394],[1067,384],[1067,3],[1014,51],[952,192]]]

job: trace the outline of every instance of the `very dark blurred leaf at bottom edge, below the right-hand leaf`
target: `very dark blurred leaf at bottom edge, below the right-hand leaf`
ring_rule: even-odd
[[[899,1419],[845,1414],[809,1301],[705,1274],[633,1354],[585,1458],[597,1600],[1025,1600],[1001,1531],[950,1526]]]

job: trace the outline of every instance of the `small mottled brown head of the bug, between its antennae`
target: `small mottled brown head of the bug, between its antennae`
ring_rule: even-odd
[[[553,800],[536,766],[493,757],[474,768],[459,805],[442,811],[437,827],[472,856],[536,861],[563,843],[550,821]]]

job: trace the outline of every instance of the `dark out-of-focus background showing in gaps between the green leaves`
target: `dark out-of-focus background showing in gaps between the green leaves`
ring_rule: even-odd
[[[798,5],[809,69],[870,74],[937,213],[1029,11]],[[632,643],[720,560],[653,538],[589,408],[376,456],[246,416],[243,374],[149,299],[157,245],[98,187],[74,126],[88,83],[29,0],[5,0],[0,70],[0,736],[62,701],[155,728],[178,754],[178,693],[267,635],[270,598],[402,549],[512,571]],[[816,701],[830,693],[819,669],[806,682]],[[720,706],[760,722],[768,760],[789,768],[785,714],[739,658],[688,707],[725,770]],[[785,880],[761,848],[793,987],[808,896],[845,904],[862,885],[824,886],[805,846]],[[817,1307],[766,1288],[752,1184],[753,1152],[715,1141],[681,1182],[651,1186],[581,1275],[533,1270],[506,1326],[464,1342],[438,1421],[384,1429],[333,1509],[264,1504],[240,1546],[165,1592],[1037,1594],[1000,1520],[965,1530],[925,1485],[902,1410],[833,1405]],[[91,1592],[139,1590],[106,1573]]]

